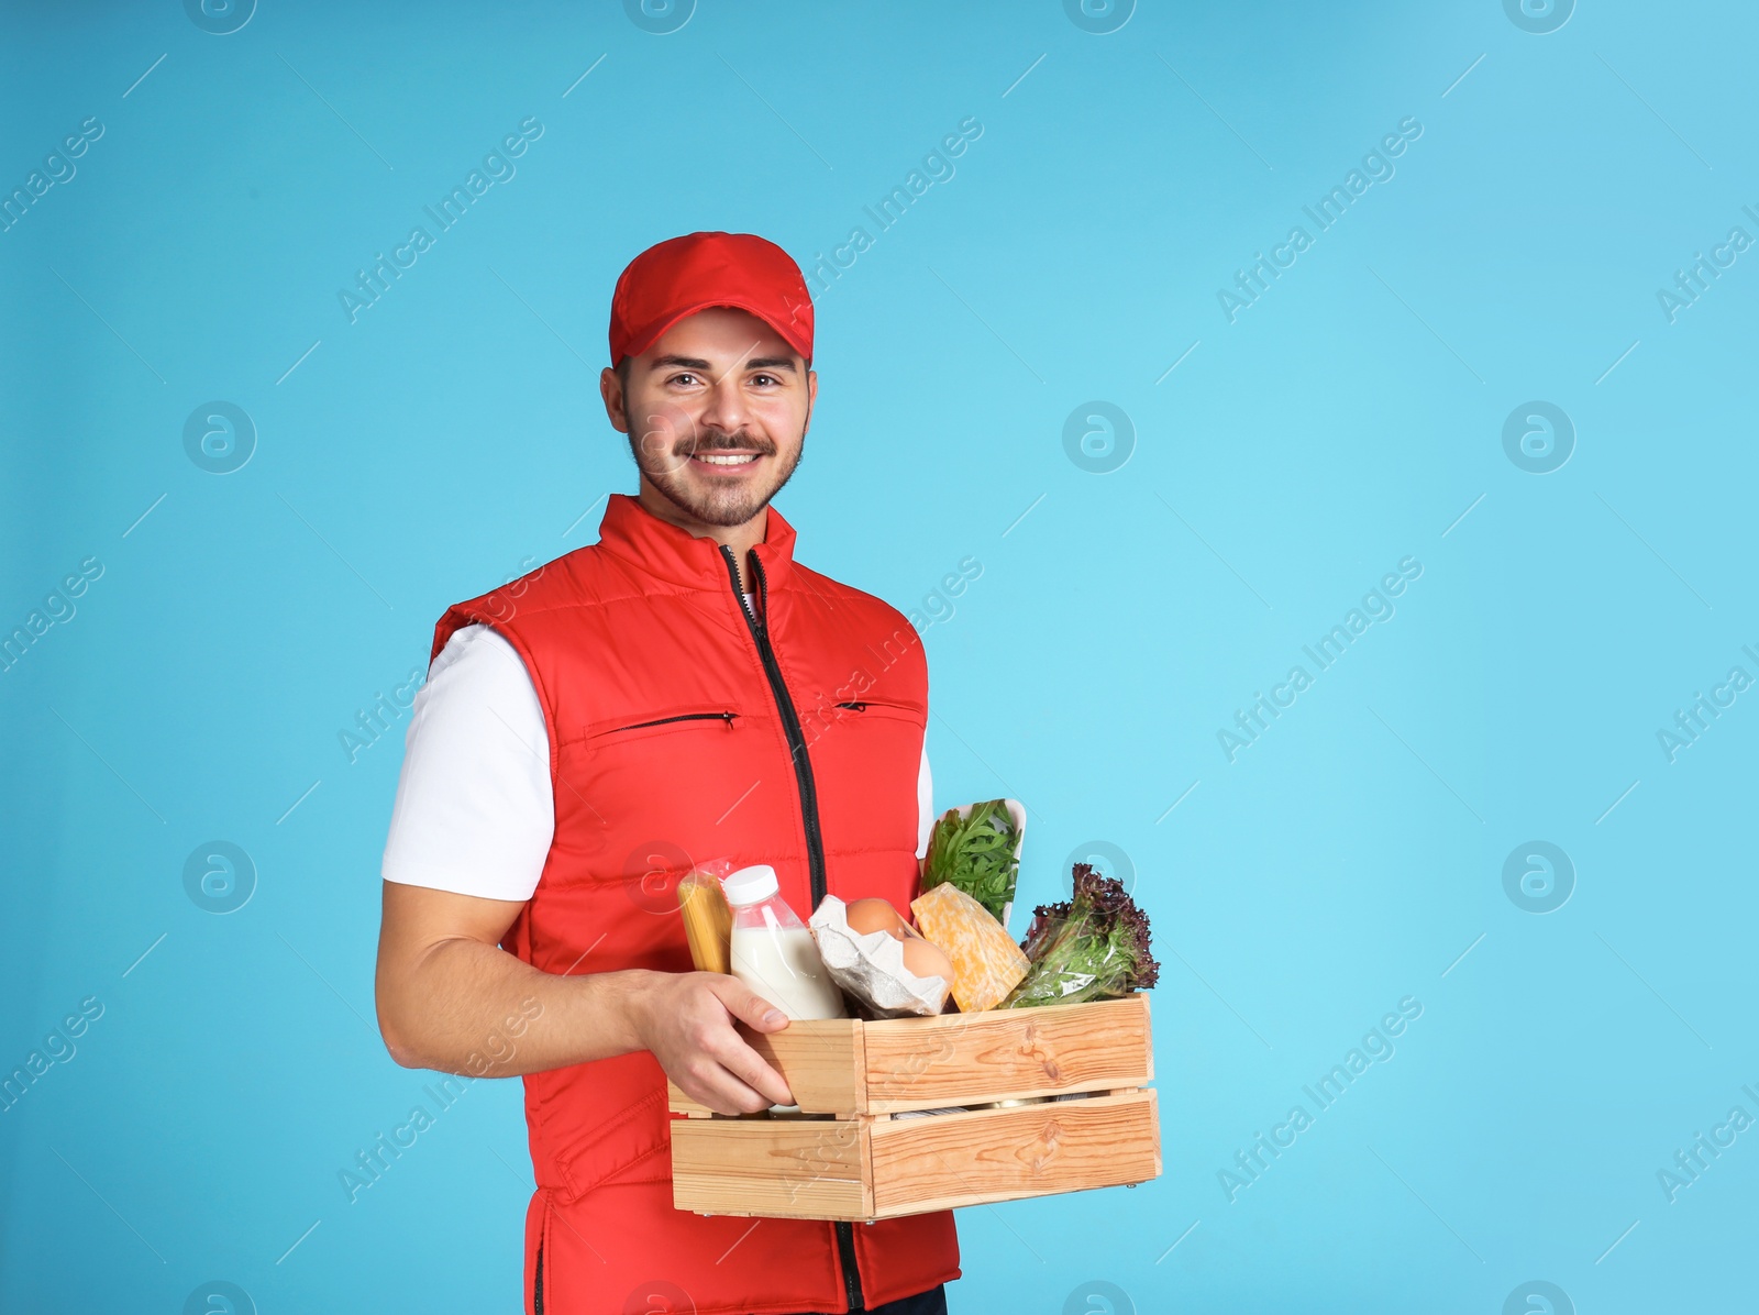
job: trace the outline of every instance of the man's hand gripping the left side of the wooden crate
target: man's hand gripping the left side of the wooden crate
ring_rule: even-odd
[[[718,1115],[793,1104],[788,1083],[741,1039],[734,1021],[781,1032],[788,1016],[725,972],[644,974],[630,1000],[635,1034],[684,1095]]]

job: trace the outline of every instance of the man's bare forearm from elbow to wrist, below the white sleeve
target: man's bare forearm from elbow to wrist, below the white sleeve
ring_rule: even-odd
[[[653,974],[558,976],[470,937],[378,976],[378,1020],[408,1069],[514,1078],[642,1050],[635,1002]]]

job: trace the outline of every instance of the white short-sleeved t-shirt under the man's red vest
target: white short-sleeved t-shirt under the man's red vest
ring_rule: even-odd
[[[932,828],[923,745],[918,858]],[[485,900],[529,900],[554,833],[549,735],[531,675],[491,628],[463,626],[415,694],[382,875]]]

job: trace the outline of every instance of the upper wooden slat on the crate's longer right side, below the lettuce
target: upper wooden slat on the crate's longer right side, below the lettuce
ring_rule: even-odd
[[[790,1028],[792,1030],[792,1028]],[[1154,1076],[1149,997],[862,1025],[869,1113],[1138,1086]]]

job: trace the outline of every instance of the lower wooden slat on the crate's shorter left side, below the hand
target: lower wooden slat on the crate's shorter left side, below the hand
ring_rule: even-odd
[[[869,1120],[672,1120],[672,1204],[702,1215],[872,1218]]]

